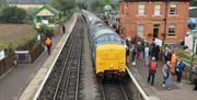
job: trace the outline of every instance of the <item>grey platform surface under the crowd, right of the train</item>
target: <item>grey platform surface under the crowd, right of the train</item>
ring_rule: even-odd
[[[150,82],[147,81],[149,69],[144,66],[142,56],[141,60],[137,60],[135,66],[132,66],[131,63],[128,64],[128,69],[132,73],[132,76],[136,78],[147,96],[157,98],[150,100],[197,100],[197,91],[193,90],[194,85],[186,84],[187,79],[183,79],[182,84],[177,84],[175,81],[175,75],[173,76],[172,80],[172,90],[163,88],[163,63],[159,60],[158,64],[159,67],[157,69],[153,86],[151,86]]]

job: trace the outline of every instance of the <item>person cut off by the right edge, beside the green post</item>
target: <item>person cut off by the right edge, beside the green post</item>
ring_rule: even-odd
[[[194,90],[197,90],[197,64],[193,66],[193,81],[194,81]]]

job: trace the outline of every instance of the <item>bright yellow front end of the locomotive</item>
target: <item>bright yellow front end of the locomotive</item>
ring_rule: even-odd
[[[115,74],[121,76],[126,71],[126,49],[124,45],[105,44],[96,48],[96,75]]]

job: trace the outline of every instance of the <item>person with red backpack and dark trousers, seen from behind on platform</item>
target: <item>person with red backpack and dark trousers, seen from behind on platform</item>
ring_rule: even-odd
[[[148,77],[148,82],[150,81],[150,78],[152,78],[151,86],[153,86],[153,84],[154,84],[154,75],[157,73],[157,68],[158,68],[158,64],[155,62],[155,58],[152,57],[152,60],[151,60],[150,67],[149,67],[149,77]]]

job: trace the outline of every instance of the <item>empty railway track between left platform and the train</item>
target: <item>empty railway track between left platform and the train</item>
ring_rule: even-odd
[[[82,23],[79,16],[38,100],[79,100],[84,32]]]

